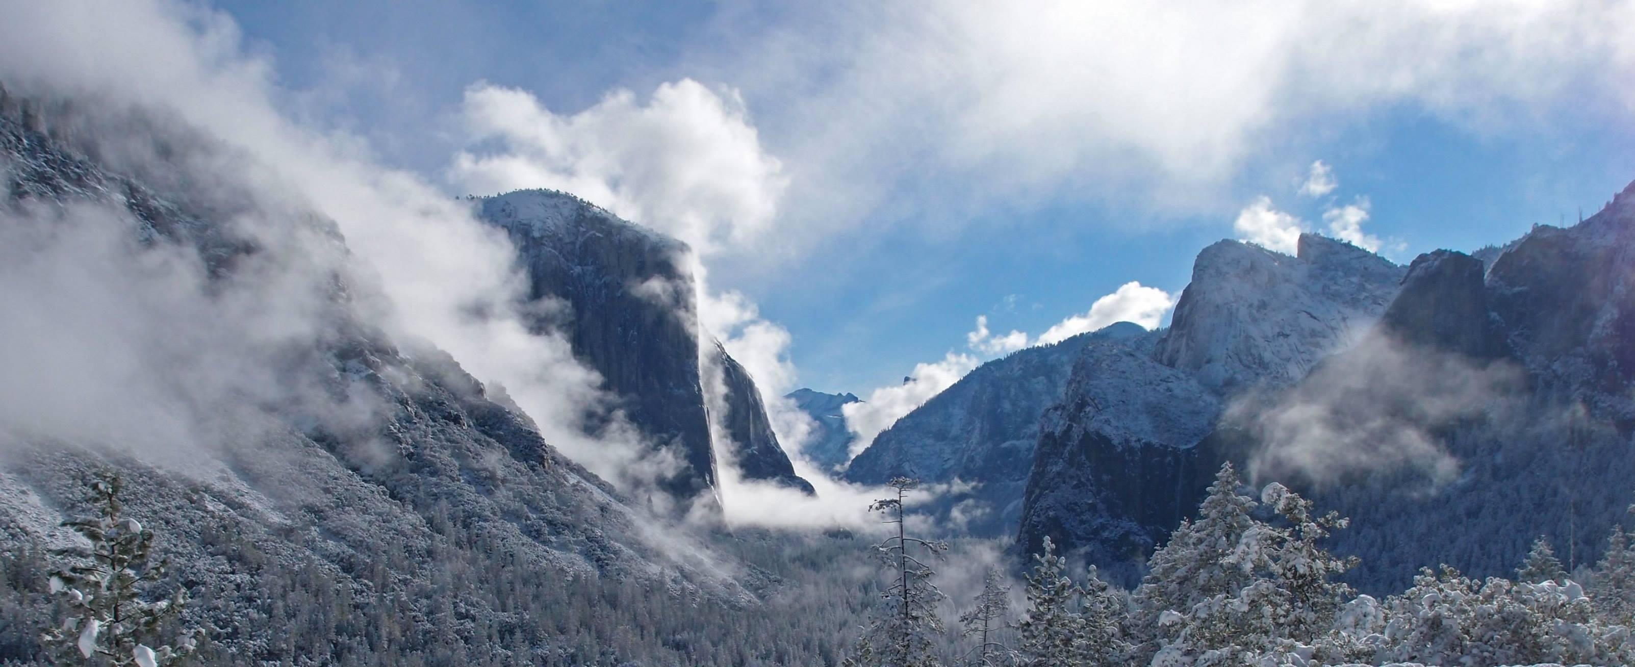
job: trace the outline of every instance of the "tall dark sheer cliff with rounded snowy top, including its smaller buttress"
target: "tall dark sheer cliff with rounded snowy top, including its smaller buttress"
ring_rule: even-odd
[[[602,374],[631,425],[654,446],[682,454],[687,468],[664,481],[665,490],[677,499],[710,494],[718,474],[698,371],[693,276],[680,265],[687,245],[551,190],[482,198],[479,211],[517,247],[528,296],[541,304],[536,330],[567,334],[574,356]],[[746,448],[736,456],[744,476],[809,490],[767,427],[754,381],[724,351],[719,356],[731,407],[726,432]]]

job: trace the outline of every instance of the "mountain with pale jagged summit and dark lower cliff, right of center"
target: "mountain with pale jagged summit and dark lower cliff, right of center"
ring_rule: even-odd
[[[1355,340],[1401,276],[1315,234],[1295,257],[1236,240],[1203,248],[1167,330],[1076,360],[1038,430],[1019,543],[1050,536],[1130,575],[1197,508],[1223,456],[1200,443],[1226,404],[1288,386]]]

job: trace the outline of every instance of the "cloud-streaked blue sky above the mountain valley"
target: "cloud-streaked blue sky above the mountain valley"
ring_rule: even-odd
[[[625,177],[620,201],[576,193],[672,234],[700,216],[680,235],[713,245],[710,288],[788,332],[773,363],[860,396],[950,351],[991,356],[966,345],[978,316],[1038,337],[1130,281],[1179,296],[1261,196],[1315,231],[1365,198],[1362,231],[1406,263],[1589,214],[1635,180],[1628,5],[1279,7],[221,5],[291,113],[450,193],[531,185],[451,167],[461,152],[594,181],[667,150],[683,167]],[[517,95],[474,131],[484,85]],[[644,113],[664,85],[685,113]],[[580,114],[553,126],[566,152],[528,147],[526,123]],[[697,160],[719,168],[690,173],[698,144],[667,141],[690,121],[736,142]],[[1316,160],[1337,186],[1303,196]]]

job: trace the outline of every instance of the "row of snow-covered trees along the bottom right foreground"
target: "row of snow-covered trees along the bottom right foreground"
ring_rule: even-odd
[[[875,508],[904,525],[903,494]],[[1256,495],[1226,464],[1194,520],[1148,559],[1133,590],[1102,580],[1095,567],[1074,579],[1045,539],[1025,575],[1025,608],[1014,615],[1004,577],[989,572],[960,616],[966,644],[937,652],[943,631],[930,584],[937,543],[898,535],[876,546],[896,584],[881,589],[875,618],[845,664],[942,665],[1153,665],[1316,667],[1635,664],[1635,544],[1622,526],[1596,567],[1575,582],[1543,538],[1514,579],[1472,579],[1450,566],[1421,569],[1413,587],[1380,600],[1342,580],[1355,557],[1324,546],[1347,526],[1334,512],[1282,484]],[[1635,512],[1635,508],[1632,508]],[[912,548],[919,553],[904,557]],[[1015,644],[991,641],[1014,629]],[[919,636],[917,636],[919,634]]]

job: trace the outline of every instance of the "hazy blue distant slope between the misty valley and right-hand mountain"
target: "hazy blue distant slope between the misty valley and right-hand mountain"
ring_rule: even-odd
[[[1007,535],[1022,515],[1038,419],[1059,401],[1073,360],[1094,340],[1143,334],[1140,325],[1118,322],[989,361],[881,432],[852,459],[845,479],[881,484],[909,476],[932,484],[956,484],[934,512],[950,513],[973,535]]]

